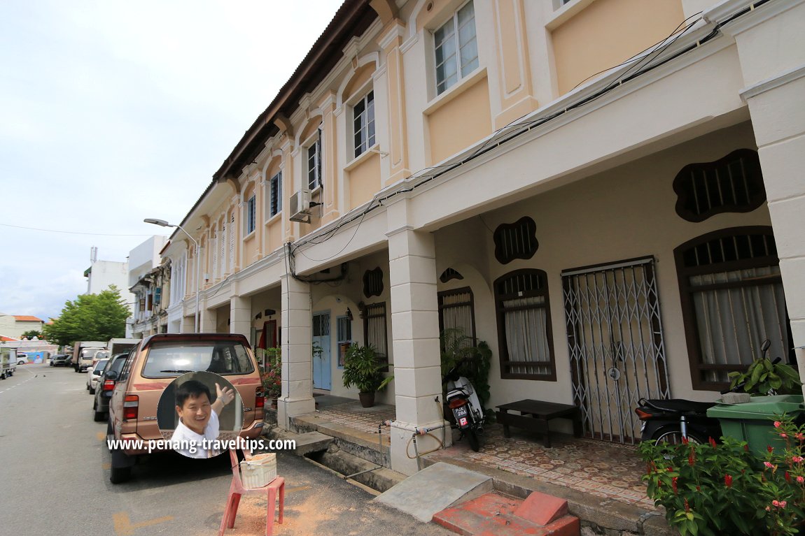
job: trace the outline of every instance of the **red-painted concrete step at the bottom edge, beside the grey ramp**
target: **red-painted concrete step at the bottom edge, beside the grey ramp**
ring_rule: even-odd
[[[581,530],[567,501],[543,493],[525,501],[485,493],[437,512],[433,521],[464,536],[579,536]]]

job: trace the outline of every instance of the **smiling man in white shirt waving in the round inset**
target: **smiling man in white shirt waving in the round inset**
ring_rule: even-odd
[[[198,380],[188,380],[176,388],[179,424],[171,437],[173,449],[188,458],[209,458],[220,451],[209,443],[218,439],[218,415],[235,398],[233,389],[215,384],[216,399],[210,403],[209,388]],[[206,443],[206,445],[205,445]]]

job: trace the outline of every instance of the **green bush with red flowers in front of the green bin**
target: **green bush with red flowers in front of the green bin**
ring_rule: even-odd
[[[654,444],[640,451],[646,461],[648,496],[666,509],[680,534],[799,534],[805,522],[805,427],[777,417],[772,433],[785,447],[765,456],[745,441]],[[782,445],[782,443],[781,443]]]

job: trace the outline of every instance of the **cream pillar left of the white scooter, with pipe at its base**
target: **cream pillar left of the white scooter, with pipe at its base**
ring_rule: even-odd
[[[416,473],[407,451],[416,429],[444,423],[436,301],[436,248],[433,235],[398,227],[388,233],[391,333],[394,343],[394,403],[391,424],[391,468]],[[437,401],[438,400],[438,401]],[[441,431],[434,435],[441,438]],[[445,434],[450,440],[450,430]],[[437,448],[430,436],[419,436],[419,452]]]

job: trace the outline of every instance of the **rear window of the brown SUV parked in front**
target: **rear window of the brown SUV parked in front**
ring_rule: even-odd
[[[173,378],[185,372],[250,374],[254,365],[239,342],[155,342],[148,348],[142,376]]]

